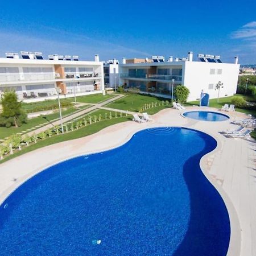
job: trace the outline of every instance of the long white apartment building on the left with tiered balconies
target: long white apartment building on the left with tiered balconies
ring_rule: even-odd
[[[19,100],[42,101],[61,97],[103,93],[103,63],[80,61],[78,56],[49,55],[40,52],[6,53],[0,58],[0,90],[15,90]],[[58,89],[59,88],[59,89]]]

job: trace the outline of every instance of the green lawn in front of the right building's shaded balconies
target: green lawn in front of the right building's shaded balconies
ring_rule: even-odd
[[[113,109],[122,109],[129,110],[132,112],[139,112],[139,109],[141,109],[144,104],[151,104],[152,102],[161,103],[162,99],[141,94],[126,94],[125,97],[121,98],[120,100],[111,102],[106,106],[108,108]],[[167,108],[167,106],[164,105],[152,109],[147,109],[145,110],[145,112],[147,112],[148,114],[155,114],[156,112],[159,112],[161,109],[164,108]]]

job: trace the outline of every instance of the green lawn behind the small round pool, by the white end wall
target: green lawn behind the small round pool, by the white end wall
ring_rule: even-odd
[[[242,94],[235,94],[234,96],[242,96],[246,101],[253,101],[253,97],[251,96],[245,96],[245,95],[242,95]],[[209,100],[209,106],[212,107],[212,108],[217,108],[217,109],[220,109],[224,104],[232,104],[232,98],[234,96],[229,96],[229,97],[224,97],[224,98],[219,98],[217,102],[217,98],[214,98],[212,100]],[[190,101],[190,102],[187,102],[187,104],[185,105],[199,105],[200,101]],[[245,113],[245,114],[253,114],[253,115],[256,115],[256,110],[251,110],[251,109],[238,109],[236,108],[236,111],[238,112],[242,112],[242,113]]]

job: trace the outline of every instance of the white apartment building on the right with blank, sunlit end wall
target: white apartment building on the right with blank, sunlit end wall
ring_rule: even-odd
[[[240,64],[238,57],[234,63],[222,63],[220,56],[198,55],[193,61],[193,52],[188,57],[152,56],[152,59],[123,58],[119,64],[121,84],[127,89],[137,88],[141,93],[171,98],[172,86],[184,85],[190,93],[188,101],[200,100],[202,90],[209,93],[210,98],[217,98],[215,86],[223,83],[220,97],[232,96],[236,93]]]

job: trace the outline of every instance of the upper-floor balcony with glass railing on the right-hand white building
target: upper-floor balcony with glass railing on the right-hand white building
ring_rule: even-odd
[[[120,74],[121,78],[124,79],[147,79],[147,80],[159,80],[159,81],[166,81],[171,82],[172,79],[175,81],[182,81],[182,76],[170,76],[170,75],[147,75],[147,74],[128,74],[122,73]]]

